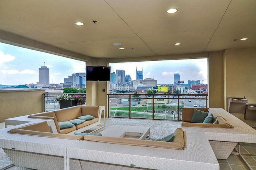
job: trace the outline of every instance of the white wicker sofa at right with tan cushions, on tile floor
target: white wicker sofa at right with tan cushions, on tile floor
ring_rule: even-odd
[[[196,108],[198,110],[216,112],[225,123],[218,124],[190,123],[194,108],[182,108],[182,129],[187,132],[204,132],[209,140],[217,159],[227,159],[240,142],[256,143],[256,130],[242,120],[236,118],[222,108]],[[185,121],[185,122],[183,122]],[[219,127],[218,127],[219,126]],[[230,127],[228,127],[230,126]],[[240,148],[240,146],[238,147]],[[238,150],[240,154],[240,150]]]

